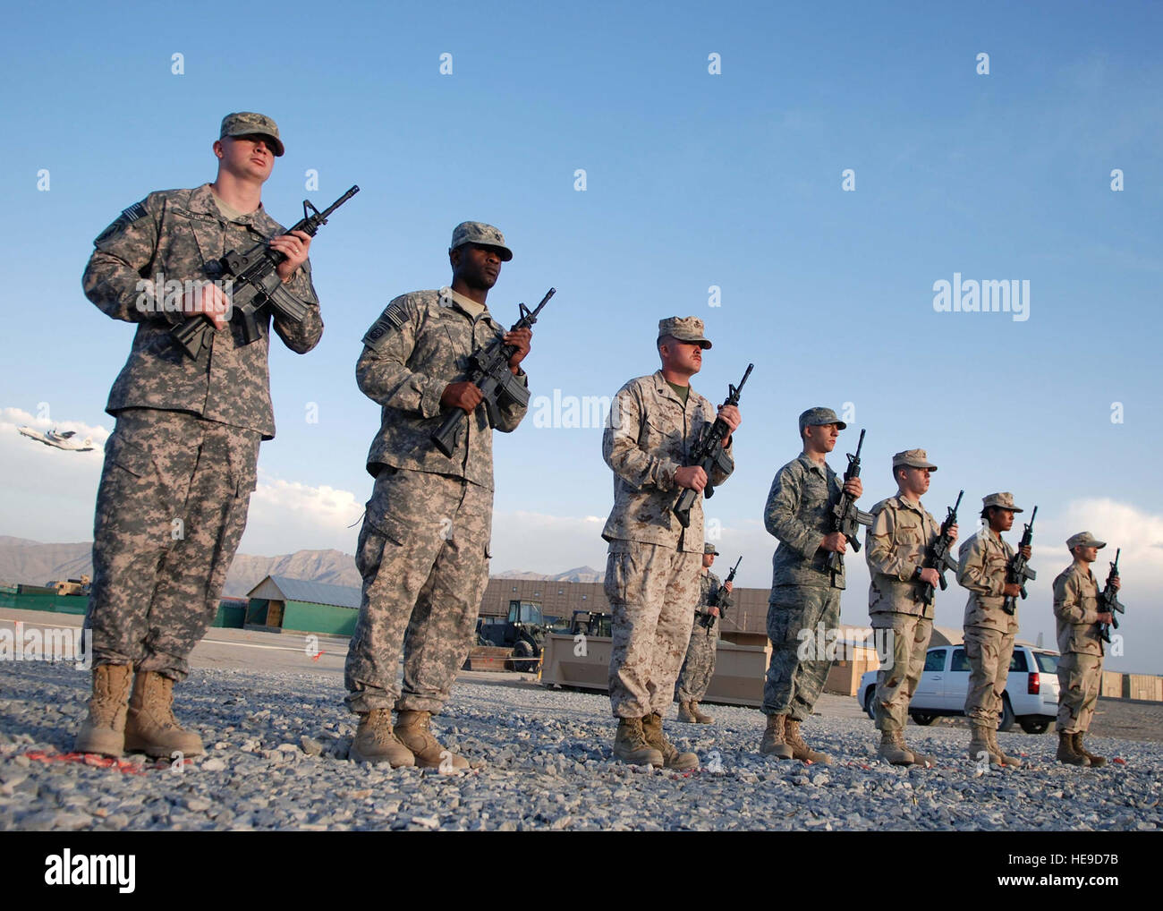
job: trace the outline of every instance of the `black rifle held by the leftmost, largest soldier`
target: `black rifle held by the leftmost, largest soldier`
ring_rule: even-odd
[[[327,223],[328,215],[358,192],[358,186],[351,187],[322,212],[305,199],[302,201],[302,219],[291,226],[286,233],[301,230],[314,237],[320,227]],[[278,266],[284,259],[286,256],[271,249],[267,242],[263,241],[245,252],[230,250],[221,259],[211,264],[208,271],[213,272],[215,279],[230,280],[233,287],[230,319],[237,318],[242,323],[244,344],[257,342],[262,336],[258,330],[257,316],[258,311],[266,304],[270,304],[276,313],[294,322],[302,322],[307,315],[307,305],[283,287]],[[197,361],[202,351],[209,348],[211,337],[214,335],[214,325],[208,316],[198,314],[178,323],[170,332],[181,349]]]

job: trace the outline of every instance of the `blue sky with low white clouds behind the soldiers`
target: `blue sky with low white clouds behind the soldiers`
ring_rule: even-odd
[[[102,408],[133,329],[80,293],[92,239],[149,191],[213,179],[222,115],[262,111],[287,147],[264,191],[274,218],[362,192],[313,245],[322,342],[272,353],[278,436],[244,551],[351,551],[378,424],[355,386],[359,339],[392,297],[447,283],[452,226],[479,219],[515,251],[490,297],[498,320],[558,289],[527,361],[535,396],[613,396],[657,366],[672,314],[706,320],[715,346],[694,385],[713,401],[755,362],[739,470],[708,504],[720,549],[747,556],[743,584],[770,584],[761,513],[798,451],[797,414],[850,403],[868,428],[865,506],[893,492],[891,454],[916,446],[941,465],[939,518],[961,487],[966,531],[991,491],[1039,504],[1032,639],[1053,638],[1062,541],[1089,524],[1126,548],[1125,600],[1158,654],[1161,20],[1156,3],[10,10],[0,408],[15,425],[48,403],[44,424],[112,429]],[[955,272],[1028,280],[1029,318],[935,312],[934,283]],[[6,439],[0,534],[91,534],[99,460],[62,456]],[[601,567],[600,430],[527,421],[499,441],[497,487],[494,570]],[[946,595],[939,620],[959,622],[963,604]],[[864,605],[854,579],[844,620]],[[1132,664],[1158,661],[1137,648]]]

